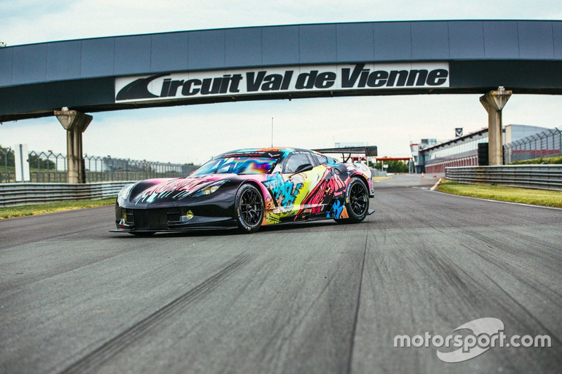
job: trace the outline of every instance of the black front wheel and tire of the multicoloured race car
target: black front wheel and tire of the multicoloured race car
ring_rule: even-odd
[[[263,196],[253,185],[242,185],[236,192],[235,217],[241,232],[251,234],[258,231],[263,221]]]

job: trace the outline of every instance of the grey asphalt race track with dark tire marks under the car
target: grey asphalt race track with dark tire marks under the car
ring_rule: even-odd
[[[0,372],[560,373],[562,211],[435,181],[377,183],[360,225],[251,235],[110,233],[112,207],[2,220]],[[552,347],[393,346],[484,317]]]

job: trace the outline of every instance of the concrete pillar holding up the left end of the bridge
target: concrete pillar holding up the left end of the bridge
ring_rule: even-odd
[[[55,110],[55,116],[66,130],[67,183],[83,183],[82,133],[92,121],[92,116],[75,110]]]

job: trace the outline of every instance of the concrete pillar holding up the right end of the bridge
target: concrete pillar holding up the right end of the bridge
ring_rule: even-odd
[[[497,91],[490,91],[480,98],[488,112],[488,165],[503,164],[502,109],[511,93],[499,87]]]

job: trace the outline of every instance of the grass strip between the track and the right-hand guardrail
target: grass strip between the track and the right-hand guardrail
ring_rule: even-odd
[[[437,189],[439,192],[481,199],[511,201],[542,206],[562,208],[562,192],[545,189],[504,187],[496,185],[466,185],[445,181]]]

